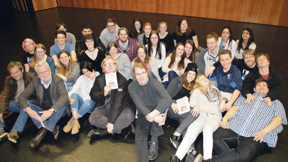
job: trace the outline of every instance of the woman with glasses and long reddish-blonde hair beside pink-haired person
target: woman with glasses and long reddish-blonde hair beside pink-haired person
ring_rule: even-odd
[[[34,56],[33,59],[29,65],[29,72],[30,73],[36,73],[35,70],[35,65],[36,63],[40,62],[40,61],[46,61],[49,66],[51,71],[54,73],[55,72],[55,66],[54,66],[54,60],[53,58],[51,58],[50,56],[46,55],[46,48],[43,44],[39,43],[34,47]]]

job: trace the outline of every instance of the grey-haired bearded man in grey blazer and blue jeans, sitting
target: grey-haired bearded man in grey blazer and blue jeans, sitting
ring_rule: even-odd
[[[38,129],[42,128],[31,142],[31,147],[37,147],[47,131],[52,132],[55,139],[59,134],[58,120],[68,112],[71,115],[68,103],[68,92],[63,80],[51,73],[49,64],[40,61],[35,66],[37,77],[19,95],[18,101],[22,110],[29,115]],[[36,93],[36,105],[28,104],[27,99]],[[42,121],[42,122],[41,122]]]

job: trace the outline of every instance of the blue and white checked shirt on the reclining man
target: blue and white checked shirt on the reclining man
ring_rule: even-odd
[[[287,125],[287,118],[284,106],[279,100],[272,101],[272,106],[269,107],[265,101],[260,101],[266,94],[259,95],[254,93],[254,103],[245,104],[246,99],[240,96],[234,105],[240,106],[235,115],[228,120],[229,129],[244,137],[253,137],[259,130],[267,127],[275,116],[282,118],[282,124]],[[263,142],[266,142],[268,147],[275,147],[277,142],[277,132],[275,129],[265,135]]]

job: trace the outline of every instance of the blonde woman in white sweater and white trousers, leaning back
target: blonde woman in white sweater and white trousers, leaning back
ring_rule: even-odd
[[[186,153],[186,161],[198,161],[202,158],[194,149],[190,149],[191,144],[203,131],[203,159],[212,158],[213,132],[219,127],[222,113],[225,111],[225,103],[231,98],[231,93],[219,91],[212,85],[205,75],[196,77],[194,89],[190,96],[190,107],[193,107],[191,114],[198,116],[195,121],[184,118],[181,126],[188,126],[187,132],[175,155],[170,157],[170,161],[181,161]],[[179,126],[180,127],[180,126]],[[174,135],[180,135],[175,132]]]

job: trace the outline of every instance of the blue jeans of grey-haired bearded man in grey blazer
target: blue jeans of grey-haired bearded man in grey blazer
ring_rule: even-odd
[[[42,114],[39,113],[39,111],[45,111],[44,109],[42,109],[40,106],[36,106],[36,105],[33,105],[33,104],[29,104],[29,107],[36,111],[38,113],[39,116],[41,116]],[[25,114],[27,114],[25,112]],[[47,130],[49,130],[50,132],[53,132],[54,130],[54,127],[56,125],[56,123],[58,122],[58,120],[64,116],[66,114],[66,106],[64,106],[63,108],[61,108],[59,111],[56,111],[54,113],[52,113],[52,115],[50,116],[50,118],[48,118],[47,120],[44,120],[43,121],[43,124],[45,125],[45,128]],[[27,114],[28,115],[28,114]],[[30,117],[30,116],[29,116]],[[33,123],[36,125],[36,127],[38,129],[42,128],[42,125],[40,123],[40,121],[34,119],[34,118],[31,118]]]

